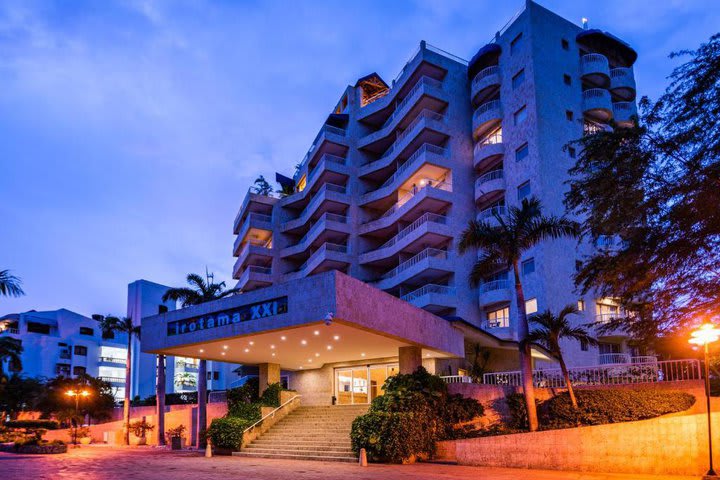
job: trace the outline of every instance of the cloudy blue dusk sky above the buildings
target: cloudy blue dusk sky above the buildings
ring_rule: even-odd
[[[720,30],[720,1],[547,0],[639,53],[639,93]],[[231,279],[258,174],[291,174],[344,88],[420,40],[463,58],[523,0],[0,3],[0,313],[124,314],[127,284]]]

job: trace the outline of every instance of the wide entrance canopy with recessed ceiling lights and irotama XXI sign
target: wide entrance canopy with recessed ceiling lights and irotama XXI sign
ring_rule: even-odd
[[[142,319],[142,351],[285,370],[397,357],[463,357],[452,324],[340,272]]]

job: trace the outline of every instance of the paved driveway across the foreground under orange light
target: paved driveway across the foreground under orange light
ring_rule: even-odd
[[[86,446],[65,455],[0,453],[2,480],[27,479],[158,479],[220,480],[689,480],[697,477],[573,473],[456,465],[370,465],[268,460],[237,457],[204,458],[196,453],[151,447]]]

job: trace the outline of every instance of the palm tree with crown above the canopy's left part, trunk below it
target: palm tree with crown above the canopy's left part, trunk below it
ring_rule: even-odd
[[[264,180],[264,179],[263,179]],[[257,182],[256,182],[257,183]],[[187,276],[188,287],[171,288],[163,295],[163,302],[174,300],[180,302],[183,307],[199,305],[219,298],[235,295],[240,292],[239,288],[225,290],[225,282],[215,283],[214,275],[205,272],[205,278],[197,273],[190,273]],[[157,392],[157,397],[165,396],[165,384],[162,392]],[[204,432],[207,428],[207,360],[200,360],[198,363],[198,436],[195,444],[198,448],[204,445]]]

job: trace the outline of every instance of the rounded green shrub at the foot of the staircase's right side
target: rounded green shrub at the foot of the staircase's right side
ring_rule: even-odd
[[[400,463],[418,454],[434,452],[428,420],[414,413],[370,412],[353,421],[350,439],[354,451],[364,448],[372,462]]]

